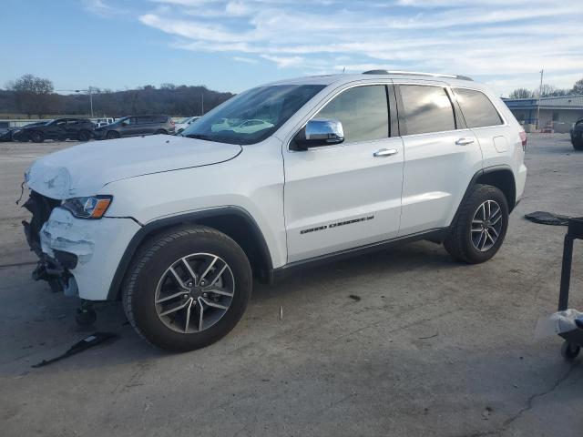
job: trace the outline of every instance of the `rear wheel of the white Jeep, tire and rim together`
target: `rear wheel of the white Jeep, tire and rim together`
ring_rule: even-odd
[[[491,219],[483,219],[487,208]],[[482,224],[477,223],[480,220]],[[485,262],[496,255],[507,229],[508,203],[502,191],[490,185],[476,184],[449,229],[444,241],[445,250],[454,259],[468,264]]]

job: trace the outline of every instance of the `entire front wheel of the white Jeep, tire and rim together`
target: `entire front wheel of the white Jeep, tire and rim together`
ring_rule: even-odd
[[[215,261],[210,261],[212,257]],[[183,259],[189,262],[190,272]],[[235,327],[251,298],[251,265],[245,252],[216,229],[170,229],[148,240],[128,271],[122,301],[129,322],[154,346],[169,351],[194,351],[220,340]],[[189,291],[180,288],[173,273]],[[212,275],[219,277],[219,285],[205,283]],[[202,288],[205,285],[208,288]],[[211,291],[217,287],[223,295]],[[174,310],[180,305],[186,307]],[[200,308],[202,330],[190,321],[200,320]],[[165,315],[169,310],[173,312]]]

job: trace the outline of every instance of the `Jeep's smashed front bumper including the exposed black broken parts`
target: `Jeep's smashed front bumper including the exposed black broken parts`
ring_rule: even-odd
[[[53,202],[53,203],[51,203]],[[24,205],[33,219],[23,222],[26,240],[39,257],[34,279],[54,291],[84,300],[107,300],[119,260],[140,228],[133,219],[77,219],[33,192]]]

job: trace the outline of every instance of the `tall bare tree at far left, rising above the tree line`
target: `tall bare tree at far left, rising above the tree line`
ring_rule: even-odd
[[[14,91],[17,106],[28,118],[33,114],[38,117],[48,114],[56,102],[53,82],[42,77],[24,75],[8,84],[6,88]]]

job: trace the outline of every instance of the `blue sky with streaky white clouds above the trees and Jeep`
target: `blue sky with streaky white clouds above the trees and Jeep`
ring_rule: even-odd
[[[374,68],[472,76],[507,96],[583,77],[583,0],[2,0],[0,86],[173,83],[240,92]],[[64,91],[66,92],[66,91]]]

